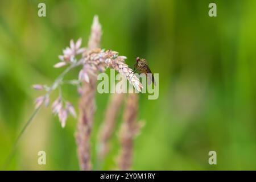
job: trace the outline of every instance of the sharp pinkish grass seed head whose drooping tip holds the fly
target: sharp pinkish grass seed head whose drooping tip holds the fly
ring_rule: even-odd
[[[137,89],[139,92],[142,90],[142,84],[139,81],[139,78],[134,75],[133,70],[125,64],[126,56],[119,56],[117,51],[107,50],[98,48],[100,43],[101,37],[101,25],[98,22],[98,17],[94,16],[93,26],[92,26],[92,34],[90,35],[88,48],[81,47],[82,39],[78,39],[77,42],[73,40],[70,41],[69,47],[63,50],[63,55],[59,56],[61,60],[59,63],[54,65],[55,68],[61,68],[64,66],[69,67],[67,69],[75,68],[79,65],[82,65],[82,68],[78,75],[79,84],[82,81],[87,83],[90,82],[90,79],[97,77],[98,72],[104,72],[106,68],[113,68],[122,75],[124,75],[127,80]],[[79,55],[79,59],[77,59],[77,55]],[[64,75],[63,75],[64,76]],[[33,85],[34,89],[42,90],[45,89],[47,94],[45,96],[41,96],[36,99],[36,107],[44,104],[46,106],[49,105],[49,93],[52,90],[57,88],[61,88],[61,85],[64,84],[63,76],[57,78],[52,86],[46,87],[43,85]],[[93,78],[94,79],[94,78]],[[68,82],[71,83],[70,81]],[[77,91],[79,94],[82,94],[81,85],[77,84],[78,87]],[[61,90],[61,89],[59,89]],[[66,102],[66,106],[63,106],[64,99],[60,96],[53,102],[52,104],[52,112],[53,114],[58,114],[61,120],[62,126],[65,126],[65,120],[68,114],[72,114],[73,117],[76,117],[75,109],[73,108],[72,104]],[[65,103],[64,103],[65,104]]]

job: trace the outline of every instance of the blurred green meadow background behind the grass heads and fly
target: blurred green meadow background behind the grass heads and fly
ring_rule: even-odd
[[[38,3],[47,16],[38,16]],[[217,17],[208,16],[210,2]],[[86,46],[94,15],[103,28],[101,46],[119,51],[134,64],[145,57],[159,73],[159,98],[140,95],[139,119],[146,126],[135,139],[133,169],[256,169],[256,1],[90,0],[0,1],[0,164],[34,111],[31,89],[51,84],[61,73],[57,55],[70,39]],[[77,77],[77,71],[69,73]],[[52,100],[57,96],[53,94]],[[76,88],[64,88],[75,104]],[[97,94],[92,136],[96,163],[97,133],[109,94]],[[118,118],[116,132],[122,116]],[[76,119],[62,129],[50,108],[43,108],[24,133],[7,169],[77,170]],[[119,142],[102,168],[116,169]],[[38,165],[38,151],[47,165]],[[209,165],[208,152],[217,152]]]

